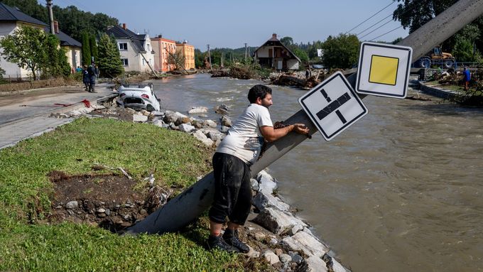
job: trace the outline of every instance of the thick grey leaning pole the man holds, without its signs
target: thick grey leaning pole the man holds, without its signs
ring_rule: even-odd
[[[483,14],[483,0],[460,0],[440,13],[433,20],[411,33],[401,40],[398,45],[413,48],[413,60],[421,58],[435,45],[443,43],[447,38],[457,33],[461,28],[471,23]],[[347,80],[354,87],[357,73],[349,75]],[[364,98],[366,95],[360,95]],[[310,121],[303,109],[293,114],[285,121],[286,124],[302,123],[310,129],[310,135],[315,134],[317,129]],[[291,151],[292,148],[305,141],[307,137],[300,134],[288,134],[287,136],[269,143],[264,156],[251,165],[251,176],[254,177],[264,168],[271,165],[281,156]],[[215,178],[213,172],[205,175],[197,183],[170,200],[163,207],[153,212],[141,222],[126,229],[126,234],[162,234],[165,232],[177,232],[186,224],[192,222],[200,214],[212,205],[215,195]]]

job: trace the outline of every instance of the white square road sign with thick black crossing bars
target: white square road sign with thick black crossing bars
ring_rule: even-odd
[[[327,141],[367,114],[366,106],[342,72],[310,89],[298,103]]]

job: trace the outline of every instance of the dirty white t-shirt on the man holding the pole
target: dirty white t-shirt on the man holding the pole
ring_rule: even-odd
[[[217,152],[236,156],[252,165],[259,158],[264,144],[261,126],[273,126],[268,109],[259,104],[250,104],[229,129]]]

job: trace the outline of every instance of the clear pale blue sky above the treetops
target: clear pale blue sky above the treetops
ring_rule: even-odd
[[[38,2],[45,5],[45,0]],[[294,43],[324,41],[347,31],[362,41],[391,42],[408,36],[408,29],[398,28],[399,21],[391,21],[389,15],[397,7],[393,0],[53,0],[53,4],[106,13],[131,31],[187,40],[202,51],[208,44],[210,48],[241,48],[244,43],[258,47],[272,33],[279,39],[289,36]]]

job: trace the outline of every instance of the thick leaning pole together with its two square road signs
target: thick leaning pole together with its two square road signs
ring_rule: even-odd
[[[433,18],[433,20],[425,23],[424,26],[421,26],[418,30],[401,40],[398,45],[404,45],[406,48],[413,48],[413,58],[418,59],[431,50],[435,45],[443,43],[444,40],[450,38],[450,36],[482,14],[483,0],[457,1],[449,9],[440,13]],[[367,44],[367,48],[372,47],[375,47],[375,49],[373,49],[376,50],[381,46],[374,45],[373,43],[370,45]],[[408,53],[408,50],[406,50],[406,59],[407,55],[409,55],[408,62],[411,63],[411,54]],[[359,73],[367,73],[365,76],[361,75],[359,79],[359,87],[356,87],[357,80],[355,77],[357,75],[353,74],[347,77],[350,86],[354,87],[354,90],[359,93],[361,97],[365,96],[365,94],[398,98],[406,96],[407,79],[400,77],[399,74],[399,65],[402,65],[401,62],[403,62],[402,55],[391,55],[391,52],[366,52],[364,48],[364,60],[362,61],[365,63],[367,60],[369,60],[369,65],[362,65],[361,62],[359,62],[359,65],[362,65],[360,66]],[[406,67],[404,69],[406,69]],[[384,71],[386,72],[385,74]],[[367,85],[364,85],[362,82],[363,80],[367,80],[367,82],[370,83],[370,86],[367,87]],[[403,84],[403,87],[400,85],[401,81],[406,81],[406,84]],[[343,129],[347,129],[348,125],[343,125],[343,119],[345,119],[345,124],[354,124],[355,121],[362,117],[359,116],[362,114],[362,108],[365,109],[365,107],[362,106],[362,103],[359,104],[359,102],[356,102],[356,96],[351,96],[352,92],[349,94],[347,89],[344,92],[343,85],[341,85],[340,82],[338,85],[341,86],[341,89],[337,92],[335,92],[335,89],[332,89],[332,87],[330,87],[329,92],[329,85],[327,85],[327,89],[324,89],[326,96],[322,93],[321,89],[318,89],[318,91],[316,91],[318,92],[318,97],[313,97],[313,99],[318,98],[321,104],[318,107],[315,105],[310,106],[310,112],[312,112],[313,116],[317,116],[317,114],[320,113],[319,116],[317,116],[319,120],[318,123],[320,123],[322,129],[325,129],[328,136],[332,136],[329,138],[333,138],[334,136],[337,136],[337,133],[343,131]],[[382,85],[389,88],[374,88],[376,85]],[[400,87],[401,89],[399,89]],[[374,92],[374,90],[376,90],[376,92]],[[310,92],[313,92],[313,90],[310,90],[309,93]],[[330,101],[328,101],[328,99],[330,99]],[[332,102],[335,101],[337,101],[336,104],[332,104]],[[337,107],[338,104],[340,105]],[[346,107],[349,106],[351,108],[354,107],[354,109],[346,109]],[[357,114],[358,110],[360,112],[359,114]],[[337,111],[339,111],[339,113],[337,113]],[[318,125],[313,124],[309,115],[310,114],[305,114],[305,110],[300,110],[288,118],[286,124],[307,124],[310,129],[310,134],[313,134],[315,133],[315,129],[319,128]],[[264,156],[254,163],[254,165],[251,165],[251,175],[256,175],[306,139],[307,137],[304,135],[288,134],[288,136],[268,144]],[[141,222],[137,222],[126,229],[125,233],[161,234],[164,232],[178,231],[197,217],[200,217],[200,215],[210,207],[215,192],[214,184],[213,173],[206,175],[187,190],[177,195],[173,200],[170,200],[156,212],[149,214],[149,216]]]

